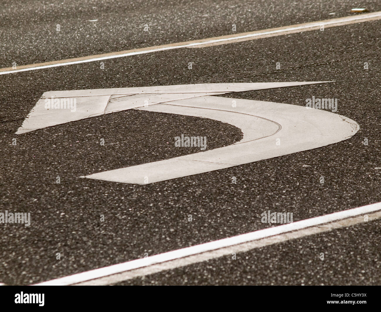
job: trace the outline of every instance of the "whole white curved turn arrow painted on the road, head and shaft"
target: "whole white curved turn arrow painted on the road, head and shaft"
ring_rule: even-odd
[[[211,118],[242,130],[243,139],[230,146],[81,177],[132,184],[154,183],[314,149],[353,136],[360,128],[355,121],[324,110],[211,96],[313,83],[323,82],[217,83],[51,91],[43,94],[16,133],[126,109]],[[65,110],[66,114],[62,114],[62,109],[47,111],[45,99],[51,96],[79,98],[77,111]],[[232,100],[236,101],[236,107],[232,107]]]

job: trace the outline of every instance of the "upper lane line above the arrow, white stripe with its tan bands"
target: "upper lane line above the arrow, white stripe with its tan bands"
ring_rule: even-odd
[[[327,19],[323,21],[310,22],[310,23],[304,23],[304,24],[295,24],[295,25],[290,25],[285,27],[278,27],[278,28],[272,28],[267,30],[265,29],[265,30],[240,33],[235,35],[226,35],[226,36],[206,38],[201,40],[171,43],[168,45],[159,45],[159,46],[151,46],[147,48],[118,51],[114,53],[83,56],[80,58],[64,59],[59,61],[51,61],[51,62],[38,63],[38,64],[29,64],[24,66],[18,66],[18,69],[12,69],[12,67],[7,67],[7,68],[0,69],[0,75],[11,74],[15,72],[24,72],[28,70],[45,69],[50,67],[81,64],[86,62],[103,61],[105,59],[122,58],[125,56],[133,56],[133,55],[152,53],[152,52],[158,52],[158,51],[166,51],[166,50],[173,50],[173,49],[180,49],[180,48],[194,48],[197,46],[231,43],[236,40],[247,40],[247,39],[250,40],[250,39],[261,38],[263,36],[269,37],[272,35],[284,35],[284,34],[289,34],[293,32],[303,32],[303,31],[320,29],[321,26],[335,27],[335,26],[341,26],[345,24],[371,21],[371,20],[380,19],[380,18],[381,18],[381,11],[378,11],[375,13],[367,13],[367,14],[362,14],[359,16],[346,16],[344,18]]]

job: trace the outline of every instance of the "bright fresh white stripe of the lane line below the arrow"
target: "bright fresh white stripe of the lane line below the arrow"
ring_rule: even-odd
[[[115,265],[107,266],[107,267],[102,267],[99,269],[94,269],[94,270],[90,270],[87,272],[69,275],[69,276],[62,277],[62,278],[56,278],[54,280],[49,280],[49,281],[37,283],[34,285],[44,285],[44,286],[74,285],[74,284],[79,284],[79,283],[83,283],[83,282],[90,281],[90,280],[108,277],[110,275],[120,274],[122,272],[128,272],[128,271],[132,271],[132,270],[136,270],[136,269],[142,269],[145,267],[147,267],[146,268],[147,272],[149,272],[149,270],[150,270],[149,266],[162,264],[164,262],[173,261],[176,259],[186,258],[189,256],[195,256],[197,254],[207,253],[210,251],[219,250],[221,248],[227,248],[227,247],[231,247],[234,245],[239,245],[239,244],[248,243],[248,242],[252,242],[252,241],[256,241],[256,240],[261,240],[264,238],[271,239],[271,237],[273,237],[275,235],[284,234],[283,235],[283,241],[285,241],[287,239],[294,238],[293,233],[291,233],[291,232],[297,231],[297,230],[306,230],[309,227],[315,227],[315,229],[312,230],[312,234],[316,234],[319,232],[325,232],[325,231],[333,229],[333,228],[348,226],[348,225],[350,225],[351,222],[352,222],[352,224],[365,222],[365,218],[362,218],[362,221],[360,219],[356,219],[355,221],[352,220],[349,223],[347,221],[345,221],[344,219],[360,216],[362,214],[374,213],[374,212],[380,211],[380,210],[381,210],[381,202],[374,203],[374,204],[370,204],[370,205],[366,205],[366,206],[352,208],[349,210],[339,211],[336,213],[326,214],[324,216],[319,216],[319,217],[315,217],[315,218],[311,218],[311,219],[297,221],[297,222],[293,222],[293,223],[289,223],[289,224],[283,224],[281,226],[274,226],[274,227],[270,227],[270,228],[263,229],[263,230],[257,230],[254,232],[241,234],[241,235],[237,235],[234,237],[224,238],[224,239],[216,240],[213,242],[208,242],[208,243],[203,243],[200,245],[181,248],[179,250],[168,251],[166,253],[156,254],[154,256],[149,256],[146,258],[127,261],[124,263],[115,264]],[[381,214],[374,214],[374,216],[375,216],[375,218],[379,218],[381,216]],[[336,223],[333,226],[330,225],[330,222],[334,222],[334,221],[339,221],[341,223],[340,224]],[[355,223],[353,223],[353,222],[355,222]],[[306,234],[306,235],[309,235],[309,234]],[[278,241],[276,241],[276,240],[277,239],[275,238],[275,242],[280,242],[279,240]],[[239,252],[240,251],[239,246],[236,246],[235,250],[236,250],[235,252]],[[216,257],[212,256],[211,258],[216,258]],[[199,261],[204,261],[204,260],[205,260],[205,258],[200,258]],[[195,262],[199,262],[199,261],[195,261]],[[180,265],[178,265],[178,266],[183,266],[183,265],[187,264],[186,262],[184,262],[184,263],[185,264],[180,263]],[[168,267],[165,267],[165,269],[168,269]],[[146,275],[146,274],[143,273],[141,275]],[[120,278],[114,279],[114,280],[112,280],[112,282],[115,283],[115,282],[118,282],[120,280],[121,280]]]

